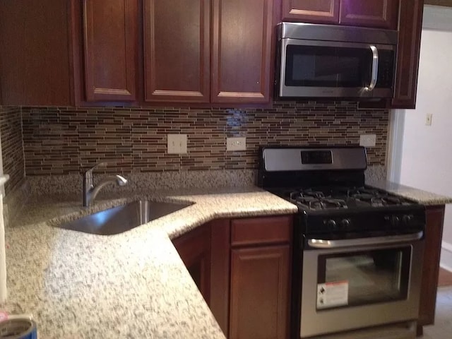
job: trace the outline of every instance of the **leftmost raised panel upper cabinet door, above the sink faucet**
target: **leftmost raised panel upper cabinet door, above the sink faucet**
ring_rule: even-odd
[[[137,0],[83,0],[83,37],[86,100],[136,100]]]

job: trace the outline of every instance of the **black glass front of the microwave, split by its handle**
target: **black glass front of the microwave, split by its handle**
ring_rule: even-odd
[[[380,68],[376,87],[391,87],[394,53],[379,50]],[[362,88],[371,79],[369,48],[288,44],[285,85],[295,87]],[[382,62],[383,61],[383,62]]]

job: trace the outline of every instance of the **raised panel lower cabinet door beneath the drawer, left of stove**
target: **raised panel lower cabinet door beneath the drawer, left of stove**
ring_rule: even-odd
[[[287,339],[290,246],[232,249],[230,339]]]

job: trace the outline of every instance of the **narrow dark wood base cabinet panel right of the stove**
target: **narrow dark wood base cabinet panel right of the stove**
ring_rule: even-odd
[[[419,326],[434,323],[436,287],[438,286],[439,257],[444,223],[444,205],[427,206],[425,227],[424,264],[422,271]]]

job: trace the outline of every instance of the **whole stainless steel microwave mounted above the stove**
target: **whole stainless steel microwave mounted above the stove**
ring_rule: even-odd
[[[393,97],[398,32],[280,23],[277,97]]]

